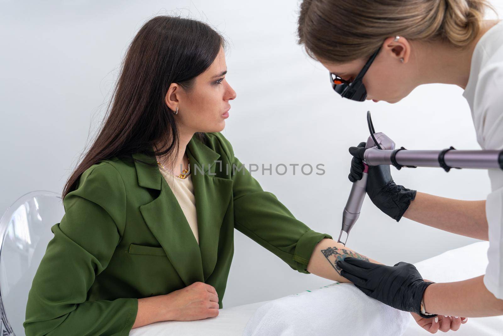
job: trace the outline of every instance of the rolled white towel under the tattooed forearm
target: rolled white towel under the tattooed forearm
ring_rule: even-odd
[[[333,283],[269,301],[250,317],[243,336],[401,335],[408,312],[366,296],[353,284]]]

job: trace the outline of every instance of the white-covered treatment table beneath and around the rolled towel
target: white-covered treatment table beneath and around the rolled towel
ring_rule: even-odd
[[[485,273],[487,266],[488,242],[477,242],[453,249],[435,257],[415,263],[425,279],[435,282],[452,282],[477,277]],[[330,284],[327,280],[327,284]],[[130,336],[166,335],[241,335],[250,317],[257,309],[270,301],[262,301],[241,306],[220,309],[219,315],[196,321],[163,321],[132,329]],[[503,316],[468,318],[458,331],[448,334],[501,335]],[[372,334],[378,334],[375,332]],[[291,333],[289,333],[291,334]],[[383,333],[384,334],[384,333]],[[410,316],[410,322],[403,335],[428,335],[428,331],[418,326]],[[437,334],[444,334],[438,331]]]

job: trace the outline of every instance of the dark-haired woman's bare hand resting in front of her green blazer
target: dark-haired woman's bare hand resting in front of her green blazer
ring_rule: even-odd
[[[165,295],[169,302],[164,321],[194,321],[218,316],[218,294],[215,288],[203,282]]]

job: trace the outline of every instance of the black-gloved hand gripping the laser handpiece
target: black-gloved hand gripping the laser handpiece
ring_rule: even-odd
[[[350,147],[349,152],[353,155],[351,172],[348,176],[351,182],[362,179],[363,154],[366,151],[366,143],[360,143],[358,147]],[[403,185],[396,185],[391,177],[389,165],[369,166],[367,179],[367,194],[372,203],[383,213],[399,222],[415,198],[416,190],[407,189]]]

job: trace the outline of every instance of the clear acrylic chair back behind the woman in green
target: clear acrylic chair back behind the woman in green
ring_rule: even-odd
[[[19,197],[0,219],[1,336],[25,335],[26,303],[38,265],[64,215],[61,197],[35,190]]]

